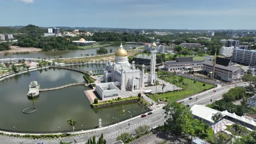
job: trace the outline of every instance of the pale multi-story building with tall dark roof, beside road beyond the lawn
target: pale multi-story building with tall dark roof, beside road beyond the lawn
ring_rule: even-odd
[[[231,59],[217,57],[214,70],[214,78],[224,81],[237,81],[243,77],[244,70],[231,64]],[[213,61],[202,63],[203,73],[211,77],[213,71]]]

